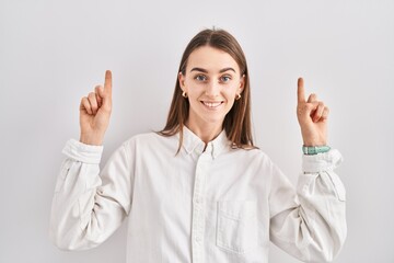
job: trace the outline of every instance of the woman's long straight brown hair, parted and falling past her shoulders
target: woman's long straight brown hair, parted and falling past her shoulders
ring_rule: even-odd
[[[239,65],[241,76],[245,76],[244,89],[240,100],[234,101],[234,105],[225,115],[223,121],[223,129],[227,133],[228,139],[232,142],[234,148],[251,149],[255,148],[252,138],[252,123],[251,123],[251,91],[250,78],[246,65],[245,55],[230,33],[223,30],[204,30],[199,32],[186,46],[182,56],[178,72],[186,75],[187,59],[190,54],[201,46],[210,46],[228,53]],[[159,132],[162,136],[173,136],[179,133],[179,152],[183,145],[183,127],[188,118],[189,102],[182,96],[182,89],[178,79],[176,78],[175,90],[171,103],[167,122],[163,130]]]

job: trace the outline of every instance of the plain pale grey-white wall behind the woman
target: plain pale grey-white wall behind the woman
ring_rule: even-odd
[[[393,14],[394,1],[383,0],[0,0],[0,262],[125,262],[126,225],[84,252],[48,239],[61,149],[79,138],[80,99],[112,69],[106,161],[130,136],[163,127],[182,53],[213,26],[242,45],[255,140],[294,184],[297,78],[331,107],[348,218],[335,262],[394,262]],[[299,261],[273,245],[270,262]]]

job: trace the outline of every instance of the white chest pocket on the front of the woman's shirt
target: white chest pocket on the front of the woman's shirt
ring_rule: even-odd
[[[255,201],[218,202],[217,245],[239,254],[257,247]]]

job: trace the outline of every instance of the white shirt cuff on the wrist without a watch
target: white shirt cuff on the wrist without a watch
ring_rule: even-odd
[[[76,139],[70,139],[67,141],[61,152],[80,162],[99,164],[103,153],[103,146],[91,146],[82,144]]]

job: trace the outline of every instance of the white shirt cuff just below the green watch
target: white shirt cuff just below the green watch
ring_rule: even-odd
[[[336,149],[331,149],[324,153],[317,153],[315,156],[302,157],[302,170],[305,173],[318,173],[323,171],[334,170],[339,167],[344,161],[340,152]]]

